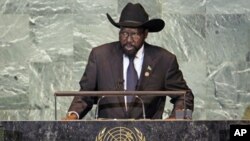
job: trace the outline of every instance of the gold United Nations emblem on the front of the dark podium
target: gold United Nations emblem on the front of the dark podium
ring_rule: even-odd
[[[145,136],[137,128],[130,130],[126,127],[103,128],[95,141],[146,141]]]

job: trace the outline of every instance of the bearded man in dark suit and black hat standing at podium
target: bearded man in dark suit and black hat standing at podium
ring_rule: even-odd
[[[193,94],[179,70],[175,55],[145,42],[148,32],[161,31],[161,19],[149,20],[141,4],[128,3],[116,23],[119,41],[93,48],[80,81],[81,91],[169,91],[187,90],[186,108],[193,110]],[[66,119],[81,119],[100,97],[76,96]],[[166,96],[142,96],[146,118],[162,119]],[[184,97],[171,97],[170,117],[184,108]],[[143,117],[141,101],[133,96],[105,97],[98,106],[98,118],[139,119]]]

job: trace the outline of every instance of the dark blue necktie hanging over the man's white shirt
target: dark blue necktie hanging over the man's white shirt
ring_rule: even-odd
[[[129,65],[127,69],[127,91],[136,89],[138,75],[134,66],[134,57],[129,57]],[[127,96],[127,102],[132,102],[133,96]]]

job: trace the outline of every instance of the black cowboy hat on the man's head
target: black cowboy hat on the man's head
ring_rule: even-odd
[[[149,32],[161,31],[165,23],[162,19],[149,20],[147,12],[141,4],[128,3],[122,10],[120,21],[116,23],[107,13],[108,20],[116,27],[143,27]]]

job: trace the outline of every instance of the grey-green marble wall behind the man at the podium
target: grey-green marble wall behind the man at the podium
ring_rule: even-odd
[[[0,0],[0,120],[53,120],[54,91],[79,90],[91,48],[118,39],[105,13],[118,21],[128,1]],[[147,41],[177,55],[194,120],[250,118],[249,0],[130,2],[165,20]],[[58,99],[59,117],[71,100]]]

